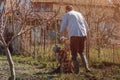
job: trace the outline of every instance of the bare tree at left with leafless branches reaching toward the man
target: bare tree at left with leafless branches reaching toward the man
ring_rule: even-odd
[[[27,2],[25,2],[21,7],[20,6],[20,0],[18,0],[18,1],[10,0],[10,9],[9,10],[6,10],[6,7],[5,7],[7,5],[6,0],[2,0],[1,3],[3,4],[3,8],[1,9],[1,15],[0,15],[0,18],[1,18],[0,19],[1,20],[0,41],[2,42],[2,44],[3,44],[4,48],[5,48],[6,55],[7,55],[7,60],[8,60],[9,66],[10,66],[10,72],[11,72],[10,79],[15,80],[16,79],[15,67],[14,67],[14,62],[13,62],[12,56],[11,56],[11,52],[9,50],[9,45],[17,37],[21,36],[22,34],[27,33],[28,31],[31,31],[32,29],[34,29],[34,27],[39,27],[39,26],[32,26],[32,27],[27,27],[26,26],[28,16],[30,16],[32,14],[36,15],[33,12],[33,7],[32,6],[30,6],[30,8],[27,7],[28,6]],[[39,22],[39,24],[42,25],[42,24],[47,23],[48,21],[54,19],[58,15],[58,13],[60,11],[60,8],[61,7],[59,7],[57,12],[51,18],[49,18],[47,20],[44,20],[42,22]],[[10,15],[7,15],[8,13],[10,13]],[[40,18],[39,15],[36,15],[36,16],[38,18]],[[8,17],[10,17],[11,22],[9,22]],[[14,34],[12,36],[12,39],[8,43],[6,43],[5,38],[4,38],[5,28],[7,26],[9,26],[9,24],[12,24],[12,28],[14,28],[15,21],[20,22],[21,28],[16,34]]]

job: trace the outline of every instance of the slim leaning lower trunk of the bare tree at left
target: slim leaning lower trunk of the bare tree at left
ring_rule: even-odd
[[[16,75],[15,75],[15,68],[14,68],[14,62],[12,60],[12,56],[11,56],[11,53],[9,51],[9,48],[5,42],[5,39],[3,38],[2,34],[0,34],[0,38],[1,38],[1,41],[5,47],[5,50],[6,50],[6,55],[7,55],[7,60],[8,60],[8,63],[9,63],[9,66],[10,66],[10,71],[11,71],[11,77],[10,77],[10,80],[15,80],[16,78]]]

